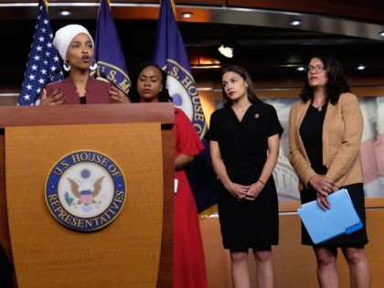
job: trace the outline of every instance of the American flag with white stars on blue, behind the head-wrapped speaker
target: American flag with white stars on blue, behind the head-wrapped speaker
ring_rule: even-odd
[[[58,51],[53,47],[52,42],[53,34],[47,5],[44,0],[40,0],[37,6],[35,35],[17,101],[18,105],[35,105],[40,91],[48,82],[64,78]]]

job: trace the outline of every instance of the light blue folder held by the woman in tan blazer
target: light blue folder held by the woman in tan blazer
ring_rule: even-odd
[[[363,227],[353,207],[347,189],[340,189],[328,196],[330,208],[323,210],[317,201],[305,203],[297,209],[309,236],[315,244],[352,233]]]

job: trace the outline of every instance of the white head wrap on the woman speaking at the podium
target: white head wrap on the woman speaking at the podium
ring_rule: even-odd
[[[63,61],[67,59],[67,50],[70,41],[72,41],[73,37],[80,33],[87,34],[91,38],[92,46],[94,47],[90,32],[88,32],[88,30],[81,25],[70,24],[65,27],[61,27],[58,31],[56,31],[55,38],[53,39],[53,46],[58,49],[59,55]]]

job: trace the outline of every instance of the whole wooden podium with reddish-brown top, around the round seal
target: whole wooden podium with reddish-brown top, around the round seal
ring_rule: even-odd
[[[172,287],[172,103],[0,107],[0,242],[18,288]],[[49,171],[97,151],[123,172],[125,200],[102,229],[55,219]]]

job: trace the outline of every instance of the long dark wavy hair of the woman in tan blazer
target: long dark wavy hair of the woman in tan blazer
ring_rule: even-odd
[[[336,104],[341,93],[349,92],[349,80],[347,79],[344,69],[340,62],[325,52],[317,52],[313,54],[311,59],[320,59],[324,65],[328,81],[325,87],[325,97],[327,101]],[[309,62],[308,61],[308,62]],[[305,75],[304,89],[300,93],[300,98],[306,102],[314,98],[314,89],[309,86],[308,77]]]

